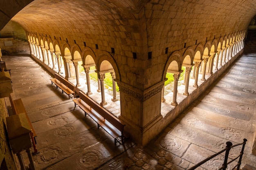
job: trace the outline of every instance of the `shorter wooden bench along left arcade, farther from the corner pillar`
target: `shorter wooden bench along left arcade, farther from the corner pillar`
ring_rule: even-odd
[[[56,85],[56,88],[60,88],[62,93],[65,92],[68,95],[68,99],[74,97],[75,96],[74,84],[70,83],[64,77],[62,77],[61,75],[58,75],[57,73],[55,73],[54,76],[55,78],[50,79],[52,81],[52,84],[54,83]]]

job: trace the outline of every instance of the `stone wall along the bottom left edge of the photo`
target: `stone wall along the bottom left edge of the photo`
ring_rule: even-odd
[[[4,161],[6,162],[6,167],[8,170],[18,170],[18,163],[16,157],[11,151],[9,145],[6,117],[8,117],[6,105],[4,99],[0,99],[0,165],[4,166]],[[3,163],[2,163],[3,162]],[[4,167],[0,167],[4,168]],[[4,168],[5,170],[5,168]]]

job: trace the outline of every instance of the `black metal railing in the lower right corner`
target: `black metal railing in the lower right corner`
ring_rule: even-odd
[[[244,149],[245,149],[245,144],[246,144],[247,139],[243,139],[243,141],[244,141],[243,143],[241,143],[241,144],[236,144],[236,145],[233,145],[230,141],[227,141],[227,142],[226,142],[227,146],[226,146],[225,149],[223,149],[223,150],[221,150],[220,152],[218,152],[218,153],[216,153],[216,154],[214,154],[214,155],[208,157],[207,159],[204,159],[203,161],[197,163],[195,166],[189,168],[188,170],[194,170],[195,168],[198,168],[198,167],[201,166],[202,164],[206,163],[207,161],[213,159],[214,157],[220,155],[221,153],[223,153],[223,152],[225,152],[225,151],[226,151],[226,153],[225,153],[224,163],[222,164],[222,167],[220,167],[218,170],[226,170],[226,169],[227,169],[227,165],[229,165],[229,163],[232,163],[233,161],[235,161],[235,160],[238,159],[238,158],[239,158],[238,163],[237,163],[231,170],[234,170],[235,168],[236,168],[237,170],[239,170],[239,169],[240,169],[240,166],[241,166],[241,161],[242,161],[242,157],[243,157],[243,154],[244,154]],[[233,146],[232,146],[232,145],[233,145]],[[228,162],[228,157],[229,157],[229,151],[230,151],[230,149],[231,149],[231,148],[234,148],[234,147],[236,147],[236,146],[239,146],[239,145],[243,145],[240,154],[239,154],[236,158],[234,158],[234,159],[232,159],[231,161]]]

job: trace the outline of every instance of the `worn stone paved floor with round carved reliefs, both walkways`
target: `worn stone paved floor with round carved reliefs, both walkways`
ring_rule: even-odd
[[[256,152],[256,54],[240,57],[145,147],[131,140],[115,146],[113,138],[56,90],[51,76],[28,55],[3,56],[2,60],[11,69],[11,95],[22,99],[37,132],[39,153],[33,157],[40,170],[184,170],[225,148],[226,141],[238,144],[243,138],[248,139],[243,164],[256,167],[256,157],[251,155]],[[94,93],[94,97],[100,95]],[[110,99],[107,95],[108,109],[118,110],[119,104]],[[6,103],[9,107],[9,98]],[[239,152],[231,149],[230,158]],[[198,169],[215,170],[222,158]]]

